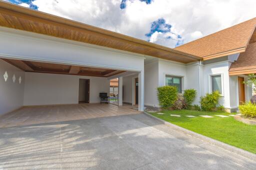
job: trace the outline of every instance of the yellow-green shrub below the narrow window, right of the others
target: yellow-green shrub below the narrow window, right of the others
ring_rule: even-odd
[[[207,93],[206,96],[201,97],[201,109],[203,111],[212,111],[218,104],[220,98],[219,91],[214,91],[212,93]]]

